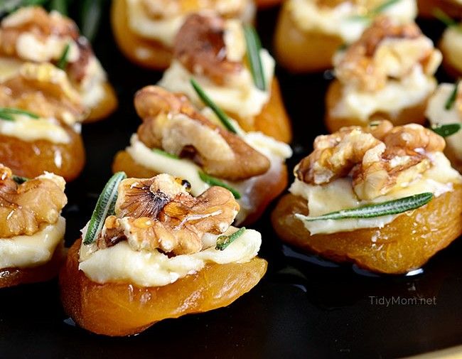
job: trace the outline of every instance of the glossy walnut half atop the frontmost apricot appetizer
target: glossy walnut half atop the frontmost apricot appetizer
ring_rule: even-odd
[[[222,187],[211,187],[198,197],[190,195],[187,188],[185,181],[168,174],[122,181],[115,215],[106,219],[98,247],[127,240],[138,251],[199,252],[203,235],[225,232],[239,204]]]

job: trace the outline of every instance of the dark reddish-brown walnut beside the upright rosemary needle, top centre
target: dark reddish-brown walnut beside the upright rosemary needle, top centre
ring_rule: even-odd
[[[174,57],[190,73],[205,75],[223,85],[240,73],[242,63],[227,58],[225,20],[210,14],[188,16],[175,39]]]

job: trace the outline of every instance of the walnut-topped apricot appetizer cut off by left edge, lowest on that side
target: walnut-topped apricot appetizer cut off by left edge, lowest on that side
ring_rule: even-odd
[[[0,164],[0,287],[44,282],[64,261],[63,177],[20,178]]]

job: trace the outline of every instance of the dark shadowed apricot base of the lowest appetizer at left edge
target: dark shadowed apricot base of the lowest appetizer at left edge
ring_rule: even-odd
[[[58,276],[59,269],[65,261],[64,244],[56,247],[50,261],[37,267],[0,269],[0,288],[19,284],[46,282]]]

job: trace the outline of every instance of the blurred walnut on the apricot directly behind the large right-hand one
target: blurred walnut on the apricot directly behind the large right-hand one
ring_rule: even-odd
[[[364,91],[380,90],[387,80],[405,77],[419,64],[433,75],[440,62],[441,53],[415,23],[398,25],[385,16],[334,60],[338,79]]]

